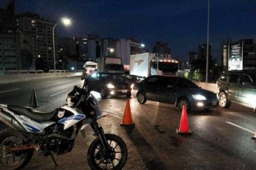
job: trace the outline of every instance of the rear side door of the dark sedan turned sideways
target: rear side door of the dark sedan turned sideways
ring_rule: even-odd
[[[148,100],[157,100],[156,95],[159,91],[159,77],[152,76],[145,81],[145,94]]]

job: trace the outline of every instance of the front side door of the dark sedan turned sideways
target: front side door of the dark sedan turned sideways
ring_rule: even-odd
[[[163,76],[160,78],[158,94],[156,95],[156,100],[164,103],[175,103],[176,95],[174,83],[172,81],[173,77]]]

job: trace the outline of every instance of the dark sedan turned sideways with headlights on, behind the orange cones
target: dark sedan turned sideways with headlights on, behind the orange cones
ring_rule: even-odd
[[[135,87],[138,103],[147,100],[170,103],[183,109],[206,109],[218,107],[219,100],[213,92],[201,89],[187,78],[178,76],[149,76]]]

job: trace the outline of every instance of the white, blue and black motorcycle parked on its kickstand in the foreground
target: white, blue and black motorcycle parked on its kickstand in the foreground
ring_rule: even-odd
[[[78,132],[91,125],[97,136],[87,151],[91,169],[122,169],[127,146],[119,136],[104,134],[97,122],[102,117],[98,100],[86,89],[75,86],[67,104],[49,113],[33,107],[0,104],[0,121],[8,128],[0,132],[0,169],[21,169],[33,152],[51,156],[70,152]]]

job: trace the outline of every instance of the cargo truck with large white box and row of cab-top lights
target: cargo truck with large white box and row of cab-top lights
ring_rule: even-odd
[[[130,56],[130,75],[147,77],[150,75],[176,76],[179,62],[176,59],[156,57],[153,53]]]

